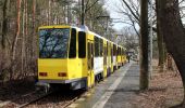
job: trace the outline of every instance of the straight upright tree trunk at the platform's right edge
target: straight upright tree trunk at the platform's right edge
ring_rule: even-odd
[[[140,17],[140,90],[149,86],[148,68],[148,0],[141,0]]]

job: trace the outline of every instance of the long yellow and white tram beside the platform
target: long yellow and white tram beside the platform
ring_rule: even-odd
[[[41,26],[38,44],[39,85],[89,89],[126,62],[123,46],[86,27]]]

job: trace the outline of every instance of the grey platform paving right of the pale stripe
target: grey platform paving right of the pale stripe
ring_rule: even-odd
[[[133,65],[125,75],[122,83],[115,89],[111,98],[104,105],[104,108],[135,108],[132,99],[137,95],[139,90],[139,69]]]

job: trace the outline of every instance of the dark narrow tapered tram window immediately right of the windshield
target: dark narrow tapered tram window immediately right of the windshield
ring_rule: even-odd
[[[71,42],[70,42],[70,58],[75,58],[76,57],[76,29],[72,29],[71,32]]]

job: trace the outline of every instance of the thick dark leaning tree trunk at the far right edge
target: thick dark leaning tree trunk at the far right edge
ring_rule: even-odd
[[[161,4],[160,27],[168,52],[173,56],[185,90],[185,29],[183,27],[178,0],[159,0]],[[166,28],[168,27],[168,28]],[[185,91],[183,104],[185,107]]]

